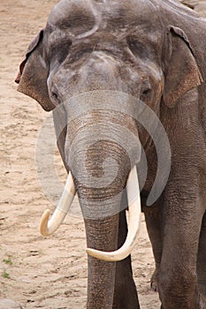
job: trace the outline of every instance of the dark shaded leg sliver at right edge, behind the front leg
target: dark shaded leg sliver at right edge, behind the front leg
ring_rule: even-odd
[[[197,280],[198,289],[205,298],[206,305],[206,213],[202,220],[202,230],[199,240],[199,249],[197,257]]]

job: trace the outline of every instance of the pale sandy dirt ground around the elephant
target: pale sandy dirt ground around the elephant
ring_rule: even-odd
[[[0,298],[11,298],[23,308],[81,309],[86,307],[87,254],[84,225],[77,215],[78,203],[53,237],[40,235],[42,212],[48,207],[54,209],[50,200],[57,200],[60,194],[55,179],[50,179],[49,188],[45,189],[50,192],[49,200],[36,172],[41,173],[47,162],[44,160],[43,166],[35,162],[35,148],[44,120],[48,122],[51,114],[19,94],[13,82],[28,43],[45,26],[56,3],[1,0]],[[49,127],[46,147],[42,149],[44,159],[51,132]],[[64,182],[65,170],[57,149],[53,158],[59,182]],[[141,308],[159,308],[157,294],[149,289],[154,262],[143,216],[133,265]]]

